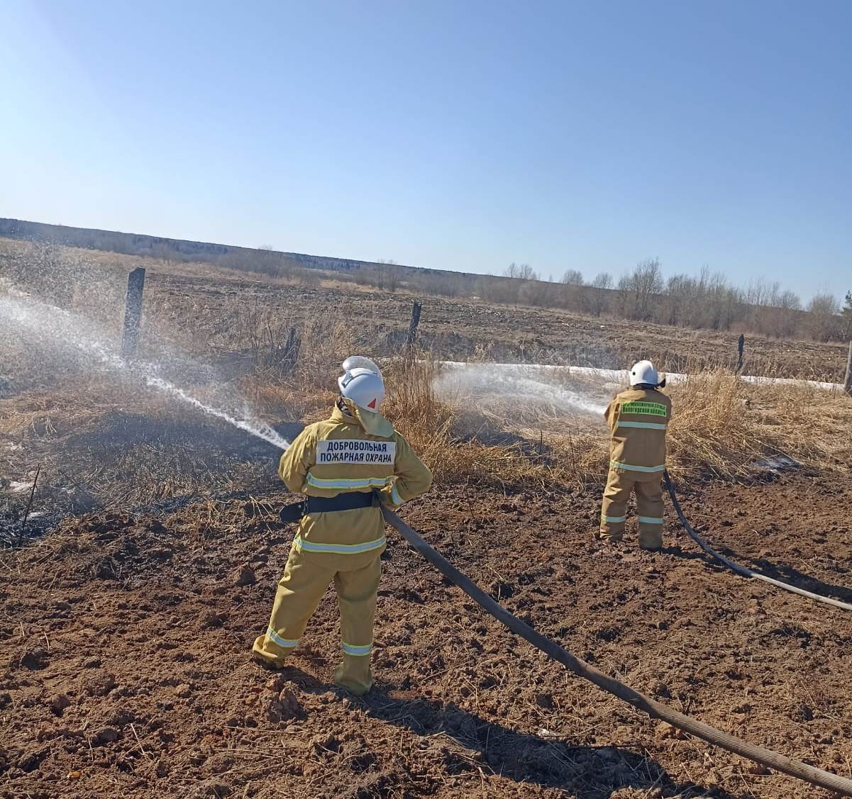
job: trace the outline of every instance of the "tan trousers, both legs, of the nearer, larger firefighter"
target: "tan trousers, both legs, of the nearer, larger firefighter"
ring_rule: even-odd
[[[382,576],[381,552],[376,549],[360,555],[331,555],[291,549],[266,634],[259,635],[251,647],[255,657],[273,666],[283,665],[333,581],[343,639],[343,663],[337,668],[334,681],[351,693],[367,693],[372,687],[370,657],[376,594]]]

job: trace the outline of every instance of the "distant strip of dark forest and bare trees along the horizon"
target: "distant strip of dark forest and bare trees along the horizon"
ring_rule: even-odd
[[[232,247],[14,219],[0,219],[0,236],[166,261],[210,263],[281,279],[313,281],[321,270],[336,273],[337,279],[389,292],[409,290],[562,308],[684,328],[748,331],[820,342],[852,339],[852,291],[846,293],[843,305],[838,297],[821,292],[803,306],[799,296],[784,290],[777,281],[757,279],[741,287],[708,269],[697,276],[676,274],[665,279],[657,260],[639,262],[618,279],[607,272],[586,279],[578,270],[569,269],[557,282],[541,279],[527,264],[510,264],[499,275],[477,275],[408,267],[393,261],[310,256],[271,247]]]

